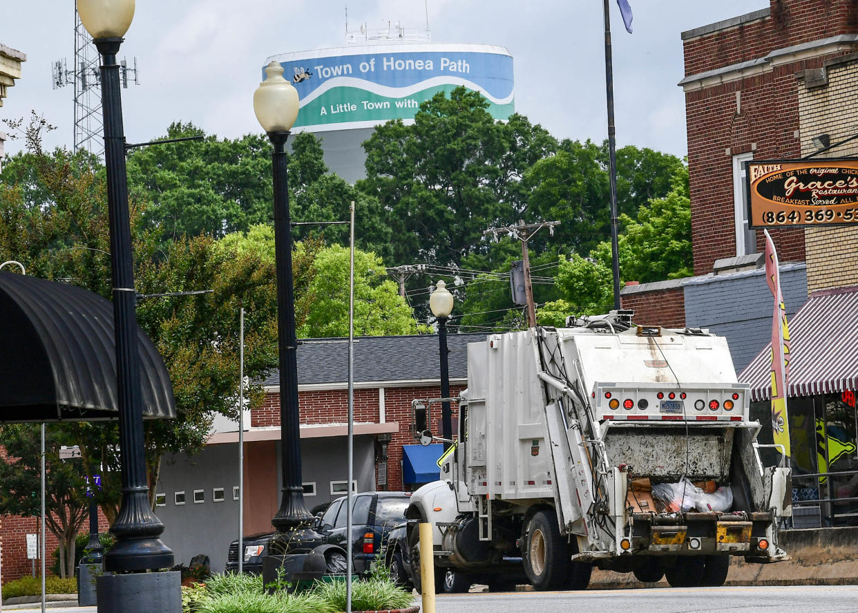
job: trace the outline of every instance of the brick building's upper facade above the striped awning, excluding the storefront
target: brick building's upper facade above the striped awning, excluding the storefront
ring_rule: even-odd
[[[696,276],[623,288],[622,303],[644,323],[726,335],[741,370],[767,342],[771,320],[763,233],[747,226],[744,162],[799,159],[817,151],[815,137],[838,143],[858,133],[858,3],[771,0],[681,38]],[[853,155],[855,143],[825,155]],[[808,292],[858,282],[853,229],[770,234],[788,316]]]

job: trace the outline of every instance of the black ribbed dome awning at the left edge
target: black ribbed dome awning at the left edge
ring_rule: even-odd
[[[144,417],[175,417],[170,376],[138,327]],[[113,305],[99,294],[0,272],[0,422],[118,416]]]

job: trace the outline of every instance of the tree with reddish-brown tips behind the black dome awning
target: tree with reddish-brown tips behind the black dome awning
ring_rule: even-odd
[[[84,154],[64,150],[47,155],[37,149],[15,156],[13,162],[0,175],[0,257],[21,261],[27,274],[109,296],[103,168]],[[23,172],[23,165],[34,171]],[[33,178],[38,189],[15,183],[21,176]],[[45,197],[27,199],[32,194]],[[143,204],[132,201],[130,207],[138,292],[214,290],[142,300],[138,307],[140,325],[165,358],[178,410],[175,420],[145,422],[148,478],[154,485],[164,452],[195,452],[208,437],[212,411],[236,410],[239,306],[247,310],[249,331],[245,373],[258,379],[276,367],[275,274],[269,258],[217,246],[210,237],[162,244],[141,221]],[[307,287],[313,257],[307,252],[294,258],[297,288]],[[308,304],[306,298],[299,300],[299,324]],[[251,399],[259,401],[261,396],[260,389],[251,390]],[[56,428],[58,440],[65,437],[64,444],[81,447],[87,474],[101,467],[104,488],[98,500],[112,521],[119,501],[116,424],[69,422]]]

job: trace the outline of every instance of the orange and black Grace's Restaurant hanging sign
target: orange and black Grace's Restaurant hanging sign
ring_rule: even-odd
[[[749,161],[750,226],[858,223],[858,160]]]

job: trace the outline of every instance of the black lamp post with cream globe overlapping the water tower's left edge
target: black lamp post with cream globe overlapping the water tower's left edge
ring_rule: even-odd
[[[274,145],[274,238],[277,270],[277,349],[280,356],[280,444],[282,488],[280,508],[271,524],[281,534],[276,551],[290,543],[301,549],[322,544],[311,529],[312,515],[301,485],[301,440],[298,405],[298,337],[295,335],[295,296],[292,281],[292,227],[289,222],[286,141],[298,118],[298,92],[283,78],[283,67],[271,62],[265,81],[253,94],[253,110]],[[272,549],[275,549],[273,546]]]

